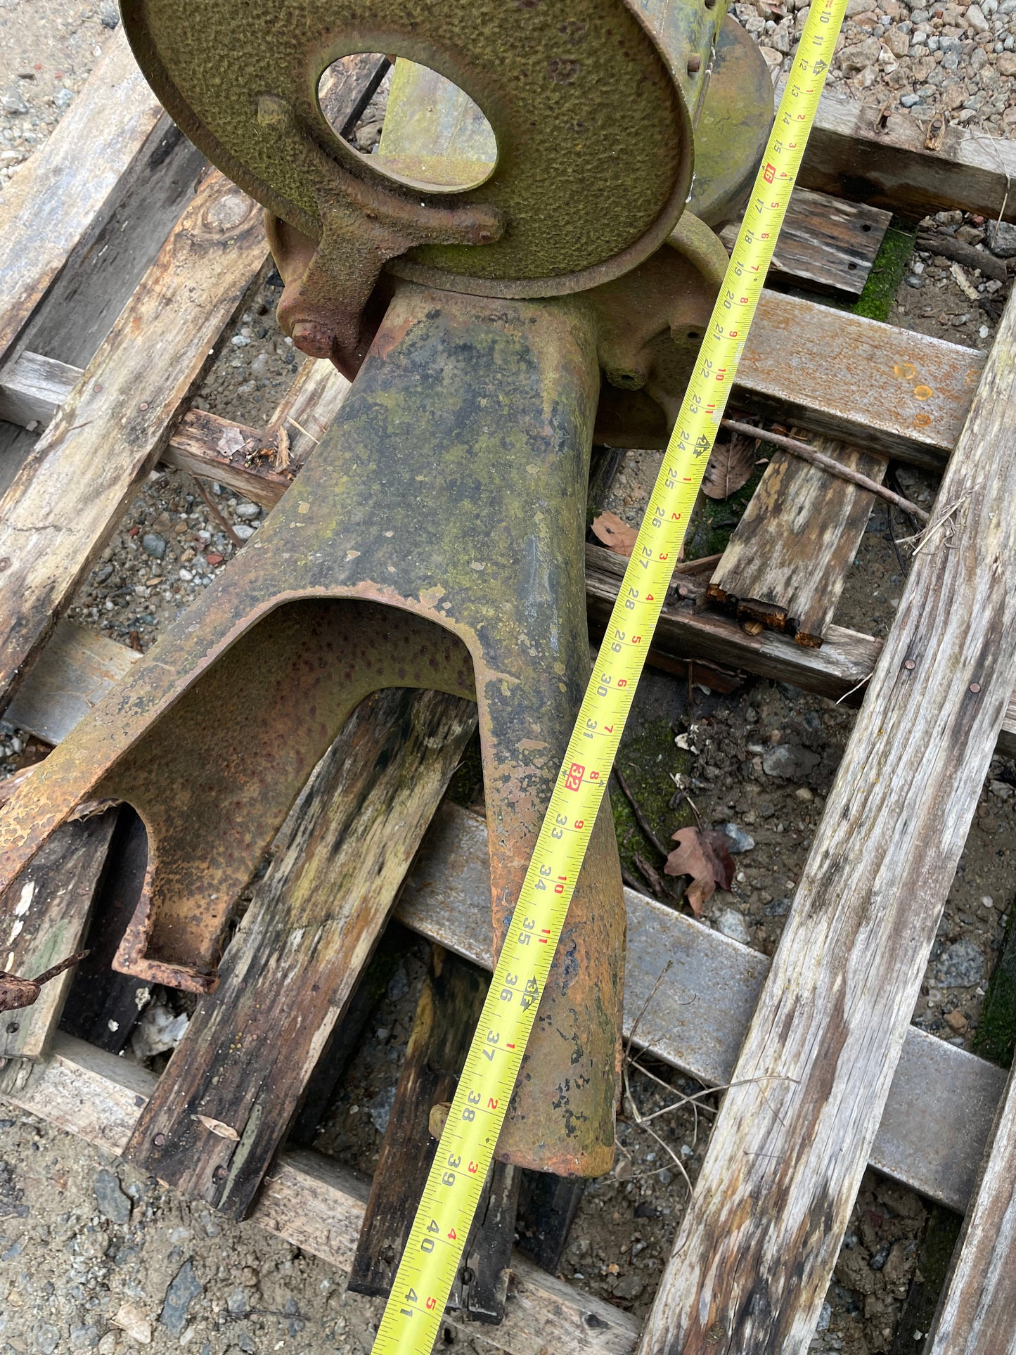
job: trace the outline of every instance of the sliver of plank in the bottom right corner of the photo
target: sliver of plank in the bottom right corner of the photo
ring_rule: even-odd
[[[1011,1076],[927,1355],[1013,1355],[1015,1274],[1016,1076]]]

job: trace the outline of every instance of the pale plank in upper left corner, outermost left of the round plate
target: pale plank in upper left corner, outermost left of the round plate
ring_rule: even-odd
[[[161,115],[121,27],[53,136],[4,190],[0,356],[72,249],[95,230]]]

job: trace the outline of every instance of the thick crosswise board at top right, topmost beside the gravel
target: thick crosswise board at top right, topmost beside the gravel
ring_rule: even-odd
[[[783,81],[778,98],[782,87]],[[928,150],[925,136],[906,112],[883,119],[881,100],[860,103],[824,93],[798,182],[916,218],[958,207],[1016,221],[1012,141],[948,125],[941,149]]]

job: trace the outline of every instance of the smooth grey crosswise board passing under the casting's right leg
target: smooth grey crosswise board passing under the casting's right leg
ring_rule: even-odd
[[[489,969],[492,931],[482,908],[489,871],[484,821],[443,805],[396,916]],[[625,890],[625,1034],[631,1034],[633,1022],[645,1011],[639,1046],[710,1087],[726,1085],[769,961],[633,889]],[[657,988],[668,962],[666,982]],[[871,1165],[963,1210],[1004,1085],[1000,1068],[910,1027]]]

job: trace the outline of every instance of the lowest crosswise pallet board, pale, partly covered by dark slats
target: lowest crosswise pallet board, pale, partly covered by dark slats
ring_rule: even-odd
[[[9,1102],[110,1153],[121,1153],[156,1085],[148,1069],[58,1034],[53,1057],[24,1065]],[[363,1221],[367,1187],[317,1153],[283,1153],[264,1183],[253,1221],[314,1256],[348,1271]],[[475,1324],[457,1314],[448,1327],[475,1339]],[[631,1355],[633,1317],[512,1257],[512,1289],[497,1347],[508,1355]]]

